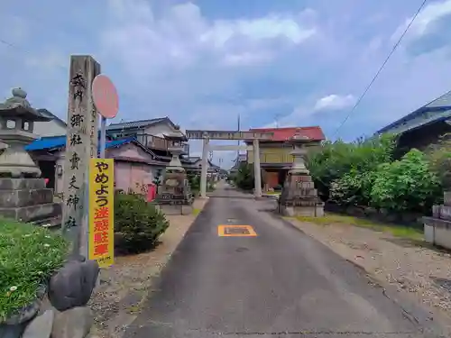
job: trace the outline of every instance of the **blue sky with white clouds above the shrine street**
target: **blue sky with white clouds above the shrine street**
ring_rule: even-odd
[[[336,132],[422,1],[2,0],[0,100],[23,87],[66,119],[69,56],[89,54],[117,87],[117,122],[230,130],[240,115],[242,129],[319,125],[353,141],[451,90],[451,0],[429,0]]]

